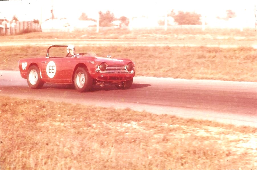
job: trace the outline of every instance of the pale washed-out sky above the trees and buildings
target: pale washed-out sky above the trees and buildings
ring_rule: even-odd
[[[0,1],[0,19],[11,20],[16,15],[20,21],[38,19],[45,21],[51,17],[54,9],[57,18],[78,19],[81,13],[96,19],[98,11],[107,10],[116,18],[138,16],[164,16],[166,11],[195,11],[196,13],[213,16],[224,16],[231,9],[236,14],[254,14],[254,0],[15,0]],[[256,7],[257,8],[257,7]]]

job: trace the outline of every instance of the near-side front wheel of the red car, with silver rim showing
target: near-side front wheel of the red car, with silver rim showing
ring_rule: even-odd
[[[73,82],[79,92],[87,92],[92,88],[93,79],[85,68],[78,67],[75,71]]]

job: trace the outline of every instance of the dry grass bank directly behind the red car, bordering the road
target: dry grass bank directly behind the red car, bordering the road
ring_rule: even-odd
[[[0,47],[0,68],[18,70],[20,58],[46,55],[46,47]],[[82,46],[77,52],[110,54],[136,62],[136,76],[257,82],[257,50],[251,47]]]

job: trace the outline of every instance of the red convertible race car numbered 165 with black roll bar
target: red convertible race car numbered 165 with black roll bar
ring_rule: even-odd
[[[52,45],[45,57],[19,60],[20,75],[27,79],[30,88],[41,88],[44,83],[74,84],[79,92],[86,92],[96,84],[101,87],[114,84],[120,89],[132,85],[135,65],[129,59],[112,59],[109,55],[103,58],[87,53],[50,56],[51,48],[53,51],[59,49],[53,47],[65,47],[69,54],[68,45]]]

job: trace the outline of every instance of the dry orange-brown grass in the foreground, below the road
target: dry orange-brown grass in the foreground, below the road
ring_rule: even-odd
[[[255,169],[257,129],[1,96],[1,169]]]

